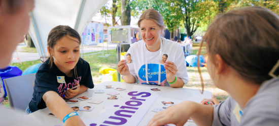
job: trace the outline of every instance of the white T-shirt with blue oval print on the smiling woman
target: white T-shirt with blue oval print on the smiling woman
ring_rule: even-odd
[[[178,72],[176,74],[177,78],[183,80],[184,84],[188,83],[188,75],[186,68],[186,61],[184,57],[184,52],[181,49],[180,45],[177,42],[173,42],[166,38],[161,37],[162,39],[162,54],[167,54],[166,61],[172,61],[178,67]],[[145,72],[145,64],[146,64],[146,44],[143,40],[135,42],[129,48],[127,53],[131,54],[131,58],[133,63],[128,64],[130,73],[135,77],[136,82],[140,82],[141,84],[146,83],[146,72]],[[161,86],[168,85],[166,80],[166,70],[164,69],[164,65],[161,64],[161,56],[160,50],[156,52],[151,52],[147,50],[148,57],[148,81],[151,85],[158,85],[158,74],[159,74],[159,65],[161,66]]]

